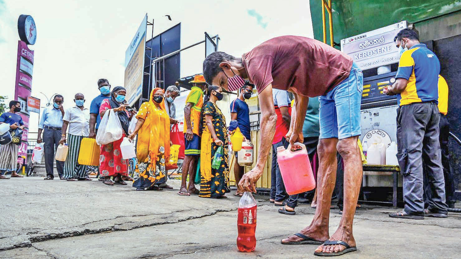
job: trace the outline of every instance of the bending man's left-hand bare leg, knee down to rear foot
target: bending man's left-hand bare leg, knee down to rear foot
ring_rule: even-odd
[[[312,223],[299,231],[302,235],[318,240],[326,241],[328,234],[328,223],[330,218],[331,194],[335,188],[336,180],[336,146],[337,138],[320,139],[317,152],[319,154],[319,172],[317,177],[317,209],[315,210]],[[282,243],[302,241],[297,235],[282,240]]]

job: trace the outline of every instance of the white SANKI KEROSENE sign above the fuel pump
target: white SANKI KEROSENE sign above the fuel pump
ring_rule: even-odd
[[[394,37],[405,28],[407,21],[402,21],[342,39],[341,51],[354,59],[362,70],[397,63],[400,55]]]

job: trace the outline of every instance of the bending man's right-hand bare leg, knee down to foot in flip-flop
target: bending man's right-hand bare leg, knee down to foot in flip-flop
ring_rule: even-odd
[[[344,210],[338,229],[329,239],[331,241],[344,241],[351,247],[355,247],[355,239],[352,235],[352,222],[354,220],[355,206],[357,206],[362,180],[362,160],[360,149],[357,145],[357,138],[358,136],[345,138],[339,140],[337,144],[337,150],[344,160]],[[320,245],[315,252],[338,253],[344,249],[343,245]]]

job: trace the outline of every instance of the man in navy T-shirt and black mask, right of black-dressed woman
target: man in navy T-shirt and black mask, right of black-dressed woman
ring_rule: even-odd
[[[231,124],[235,124],[237,122],[238,128],[242,132],[244,137],[244,141],[251,141],[250,136],[250,109],[248,108],[248,104],[245,102],[245,99],[250,99],[251,94],[253,94],[254,84],[250,82],[245,82],[245,85],[240,88],[240,94],[238,95],[237,99],[231,102]],[[232,125],[230,125],[229,130],[232,129]],[[236,153],[237,157],[237,153]],[[234,176],[236,183],[240,182],[240,178],[243,175],[243,167],[240,166],[237,162],[237,159],[234,159]],[[243,191],[237,184],[237,192],[235,193],[236,196],[242,196]]]

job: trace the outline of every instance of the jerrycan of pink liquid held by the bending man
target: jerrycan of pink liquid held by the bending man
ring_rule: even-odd
[[[296,144],[302,148],[296,151],[291,151],[291,146],[288,146],[288,149],[283,146],[277,148],[278,167],[284,180],[285,190],[290,195],[315,188],[315,179],[306,146],[299,142]]]

